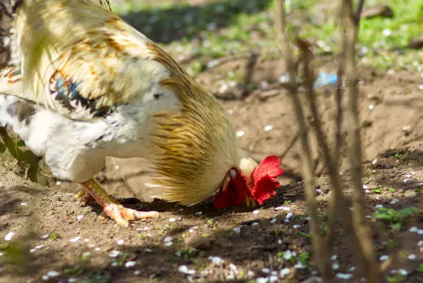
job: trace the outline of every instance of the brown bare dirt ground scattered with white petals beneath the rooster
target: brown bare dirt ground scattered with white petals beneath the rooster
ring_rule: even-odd
[[[267,70],[279,63],[259,62],[252,81],[272,83],[274,72]],[[243,70],[243,64],[228,62],[198,80],[213,90],[219,68]],[[423,77],[409,72],[379,75],[367,68],[360,74],[368,215],[377,205],[396,211],[422,208],[423,91],[418,86]],[[148,180],[144,161],[110,159],[99,176],[109,193],[136,197],[125,200],[128,207],[161,213],[158,219],[122,228],[102,219],[100,206],[75,200],[77,185],[50,180],[50,186],[41,186],[0,166],[0,282],[302,282],[316,276],[308,258],[301,162],[297,146],[289,148],[297,126],[287,94],[275,90],[223,100],[236,130],[244,133],[241,146],[252,157],[283,155],[284,185],[260,207],[216,211],[210,200],[190,207],[151,202],[151,192],[143,185]],[[323,121],[330,129],[332,92],[323,89],[319,95]],[[319,150],[314,151],[319,171]],[[346,160],[341,171],[349,194]],[[316,188],[324,208],[329,191],[325,175],[317,178]],[[378,259],[391,255],[386,275],[402,276],[404,281],[395,282],[422,282],[417,272],[423,253],[421,216],[411,217],[395,231],[379,221],[373,228]],[[339,282],[357,282],[357,277],[341,279],[354,276],[356,267],[344,233],[339,221],[332,257],[335,273]],[[287,251],[297,255],[290,257]]]

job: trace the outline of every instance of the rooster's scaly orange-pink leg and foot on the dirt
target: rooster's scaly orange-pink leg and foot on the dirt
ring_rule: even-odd
[[[135,209],[125,208],[106,193],[104,188],[94,178],[81,184],[95,201],[104,208],[104,212],[121,226],[129,226],[129,221],[131,220],[152,218],[159,214],[156,211],[135,211]]]

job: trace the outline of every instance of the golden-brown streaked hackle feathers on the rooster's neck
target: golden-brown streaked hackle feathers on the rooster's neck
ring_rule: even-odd
[[[158,197],[196,204],[219,188],[207,184],[210,177],[219,177],[210,176],[215,170],[222,182],[225,173],[238,165],[234,129],[225,109],[210,92],[156,44],[147,44],[147,48],[171,71],[171,77],[161,84],[178,94],[182,106],[180,113],[151,115],[156,121],[153,142],[162,149],[155,161],[155,184],[164,187]]]

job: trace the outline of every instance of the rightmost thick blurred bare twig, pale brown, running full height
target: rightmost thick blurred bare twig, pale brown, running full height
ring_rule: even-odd
[[[362,9],[363,1],[360,1],[359,9]],[[355,42],[357,41],[359,12],[354,12],[353,1],[341,0],[341,5],[345,9],[344,17],[346,23],[346,81],[348,86],[348,104],[346,108],[346,119],[348,121],[348,137],[350,170],[353,181],[353,222],[359,244],[364,256],[361,258],[362,266],[366,273],[368,282],[380,282],[380,269],[375,260],[373,252],[373,240],[370,226],[366,221],[366,209],[364,193],[362,190],[362,169],[361,169],[361,135],[358,113],[358,87],[357,87],[357,66],[355,64]]]

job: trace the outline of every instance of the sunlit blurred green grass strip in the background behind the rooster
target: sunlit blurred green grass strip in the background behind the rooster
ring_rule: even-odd
[[[337,8],[324,8],[321,3],[327,1],[323,0],[287,3],[288,20],[297,24],[299,35],[317,42],[317,54],[335,55]],[[423,37],[423,1],[373,0],[366,1],[365,8],[377,3],[388,4],[394,17],[361,19],[359,64],[422,72],[422,50],[405,47],[412,37]],[[209,1],[205,6],[189,6],[186,1],[124,1],[120,6],[112,2],[114,12],[158,41],[171,55],[180,60],[194,57],[193,75],[215,58],[276,48],[273,6],[273,0]],[[203,63],[198,63],[198,58]]]

